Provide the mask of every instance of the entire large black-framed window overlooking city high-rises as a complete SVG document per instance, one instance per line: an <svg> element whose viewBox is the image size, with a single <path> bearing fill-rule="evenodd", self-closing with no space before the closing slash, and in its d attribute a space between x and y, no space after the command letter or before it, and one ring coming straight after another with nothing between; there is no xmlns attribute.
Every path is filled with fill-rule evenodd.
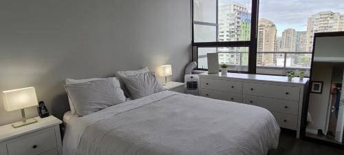
<svg viewBox="0 0 344 155"><path fill-rule="evenodd" d="M198 68L206 53L232 71L309 75L315 32L344 31L344 1L193 0ZM259 10L259 12L257 11Z"/></svg>

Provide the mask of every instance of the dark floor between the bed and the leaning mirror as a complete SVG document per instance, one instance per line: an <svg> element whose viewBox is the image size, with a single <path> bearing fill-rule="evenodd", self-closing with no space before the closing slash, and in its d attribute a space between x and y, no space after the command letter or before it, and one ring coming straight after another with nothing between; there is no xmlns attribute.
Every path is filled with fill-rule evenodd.
<svg viewBox="0 0 344 155"><path fill-rule="evenodd" d="M312 141L299 140L295 133L281 131L279 148L272 150L269 155L343 155L344 149L315 143Z"/></svg>

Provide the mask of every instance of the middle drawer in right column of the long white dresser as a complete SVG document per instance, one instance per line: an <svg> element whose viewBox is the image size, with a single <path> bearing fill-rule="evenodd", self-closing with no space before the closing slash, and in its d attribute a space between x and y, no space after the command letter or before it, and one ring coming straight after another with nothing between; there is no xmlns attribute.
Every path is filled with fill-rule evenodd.
<svg viewBox="0 0 344 155"><path fill-rule="evenodd" d="M284 114L299 114L299 102L281 99L272 99L261 96L243 95L243 103L264 107L272 112L281 112Z"/></svg>

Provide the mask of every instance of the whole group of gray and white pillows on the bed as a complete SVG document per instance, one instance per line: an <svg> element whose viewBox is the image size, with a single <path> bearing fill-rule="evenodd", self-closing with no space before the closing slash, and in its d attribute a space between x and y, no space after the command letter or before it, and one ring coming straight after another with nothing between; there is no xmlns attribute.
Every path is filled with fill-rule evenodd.
<svg viewBox="0 0 344 155"><path fill-rule="evenodd" d="M86 116L106 107L131 99L140 99L164 89L148 68L141 70L118 71L116 77L73 80L66 79L72 114Z"/></svg>

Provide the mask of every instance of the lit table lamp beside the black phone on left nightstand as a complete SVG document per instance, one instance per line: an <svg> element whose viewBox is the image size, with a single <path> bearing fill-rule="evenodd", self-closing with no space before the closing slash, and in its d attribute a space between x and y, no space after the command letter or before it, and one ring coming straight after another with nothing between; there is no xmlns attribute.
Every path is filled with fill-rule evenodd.
<svg viewBox="0 0 344 155"><path fill-rule="evenodd" d="M26 119L24 111L25 107L38 105L34 87L25 87L17 90L3 91L3 105L5 107L5 110L8 112L21 110L22 121L12 123L12 126L14 128L37 122L34 118Z"/></svg>

